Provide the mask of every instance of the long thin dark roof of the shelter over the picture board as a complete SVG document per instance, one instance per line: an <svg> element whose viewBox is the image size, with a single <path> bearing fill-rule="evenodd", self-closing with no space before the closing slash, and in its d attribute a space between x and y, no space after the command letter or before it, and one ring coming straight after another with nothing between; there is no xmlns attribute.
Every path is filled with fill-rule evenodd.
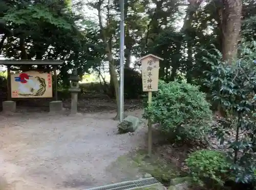
<svg viewBox="0 0 256 190"><path fill-rule="evenodd" d="M0 60L0 65L62 65L62 60Z"/></svg>

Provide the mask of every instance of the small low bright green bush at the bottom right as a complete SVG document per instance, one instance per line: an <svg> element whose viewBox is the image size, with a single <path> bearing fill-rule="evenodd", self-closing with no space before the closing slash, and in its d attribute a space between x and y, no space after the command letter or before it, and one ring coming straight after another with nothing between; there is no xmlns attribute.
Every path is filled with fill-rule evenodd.
<svg viewBox="0 0 256 190"><path fill-rule="evenodd" d="M185 161L195 183L217 189L224 185L230 164L223 153L199 150L189 154Z"/></svg>

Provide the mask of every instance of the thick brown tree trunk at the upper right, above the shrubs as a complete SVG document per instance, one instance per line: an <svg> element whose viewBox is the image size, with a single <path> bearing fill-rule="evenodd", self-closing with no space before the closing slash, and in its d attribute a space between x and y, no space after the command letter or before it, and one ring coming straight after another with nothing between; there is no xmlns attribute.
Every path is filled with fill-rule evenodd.
<svg viewBox="0 0 256 190"><path fill-rule="evenodd" d="M241 31L242 1L222 0L221 12L223 61L231 64L237 56Z"/></svg>

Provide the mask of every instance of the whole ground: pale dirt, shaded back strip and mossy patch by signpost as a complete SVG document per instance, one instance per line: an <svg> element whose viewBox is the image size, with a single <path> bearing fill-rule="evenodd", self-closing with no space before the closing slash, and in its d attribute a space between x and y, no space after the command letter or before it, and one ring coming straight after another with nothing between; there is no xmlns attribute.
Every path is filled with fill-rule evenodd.
<svg viewBox="0 0 256 190"><path fill-rule="evenodd" d="M4 189L86 189L141 178L145 173L168 185L180 175L177 170L186 150L159 146L165 140L153 131L154 155L144 159L145 121L135 133L117 134L113 100L80 99L83 114L77 116L68 116L69 100L63 101L66 111L50 115L49 101L22 100L12 116L0 113L0 175L9 183ZM139 107L140 100L125 102L126 111ZM141 118L142 113L126 114ZM0 178L0 190L1 184Z"/></svg>

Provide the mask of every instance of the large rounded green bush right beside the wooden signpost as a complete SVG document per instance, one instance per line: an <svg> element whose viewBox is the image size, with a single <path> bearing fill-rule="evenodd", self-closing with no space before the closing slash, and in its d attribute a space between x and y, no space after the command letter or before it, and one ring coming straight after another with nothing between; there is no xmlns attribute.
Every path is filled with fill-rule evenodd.
<svg viewBox="0 0 256 190"><path fill-rule="evenodd" d="M198 87L185 82L159 82L150 107L145 107L144 118L159 123L161 131L175 134L182 140L202 140L209 131L212 113L205 94Z"/></svg>

